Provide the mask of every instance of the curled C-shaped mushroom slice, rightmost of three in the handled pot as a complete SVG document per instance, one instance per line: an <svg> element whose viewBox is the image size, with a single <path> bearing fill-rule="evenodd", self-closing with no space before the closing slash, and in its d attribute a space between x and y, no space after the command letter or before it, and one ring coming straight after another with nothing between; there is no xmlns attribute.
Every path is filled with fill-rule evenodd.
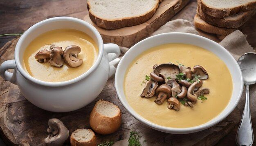
<svg viewBox="0 0 256 146"><path fill-rule="evenodd" d="M64 50L63 58L65 62L71 67L80 66L83 63L82 59L77 58L78 53L81 52L81 48L76 45L67 46Z"/></svg>

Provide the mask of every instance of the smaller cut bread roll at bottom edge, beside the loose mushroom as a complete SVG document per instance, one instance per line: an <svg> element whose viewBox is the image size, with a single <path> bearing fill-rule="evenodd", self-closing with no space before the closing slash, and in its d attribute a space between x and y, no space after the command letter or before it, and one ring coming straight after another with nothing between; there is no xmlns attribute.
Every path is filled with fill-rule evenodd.
<svg viewBox="0 0 256 146"><path fill-rule="evenodd" d="M91 129L76 129L70 135L71 146L97 146L97 138Z"/></svg>

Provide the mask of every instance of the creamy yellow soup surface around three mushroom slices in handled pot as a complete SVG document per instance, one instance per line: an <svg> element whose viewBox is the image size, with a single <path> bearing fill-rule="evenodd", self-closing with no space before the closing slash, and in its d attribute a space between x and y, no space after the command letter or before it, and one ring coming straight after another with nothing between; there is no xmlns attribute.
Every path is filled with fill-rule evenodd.
<svg viewBox="0 0 256 146"><path fill-rule="evenodd" d="M83 64L78 67L71 67L64 63L61 68L52 66L49 62L40 63L35 59L36 53L47 49L49 46L62 47L63 51L67 46L76 45L81 48L79 59L83 59ZM99 49L89 35L74 29L56 29L48 31L35 38L25 50L23 67L32 77L46 82L63 82L74 79L90 69L97 60Z"/></svg>

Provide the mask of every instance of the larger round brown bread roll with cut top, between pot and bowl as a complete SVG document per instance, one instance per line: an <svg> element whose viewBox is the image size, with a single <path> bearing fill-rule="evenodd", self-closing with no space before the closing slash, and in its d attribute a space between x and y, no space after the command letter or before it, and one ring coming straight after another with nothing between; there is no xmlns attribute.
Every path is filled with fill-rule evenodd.
<svg viewBox="0 0 256 146"><path fill-rule="evenodd" d="M90 114L90 126L99 134L110 134L121 126L121 111L105 100L96 102Z"/></svg>

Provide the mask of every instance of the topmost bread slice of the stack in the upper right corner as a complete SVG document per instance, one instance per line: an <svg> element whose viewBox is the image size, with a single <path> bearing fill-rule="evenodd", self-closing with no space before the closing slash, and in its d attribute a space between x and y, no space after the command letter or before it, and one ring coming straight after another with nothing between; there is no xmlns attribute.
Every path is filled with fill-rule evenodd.
<svg viewBox="0 0 256 146"><path fill-rule="evenodd" d="M216 18L256 9L256 0L199 0L204 13Z"/></svg>

